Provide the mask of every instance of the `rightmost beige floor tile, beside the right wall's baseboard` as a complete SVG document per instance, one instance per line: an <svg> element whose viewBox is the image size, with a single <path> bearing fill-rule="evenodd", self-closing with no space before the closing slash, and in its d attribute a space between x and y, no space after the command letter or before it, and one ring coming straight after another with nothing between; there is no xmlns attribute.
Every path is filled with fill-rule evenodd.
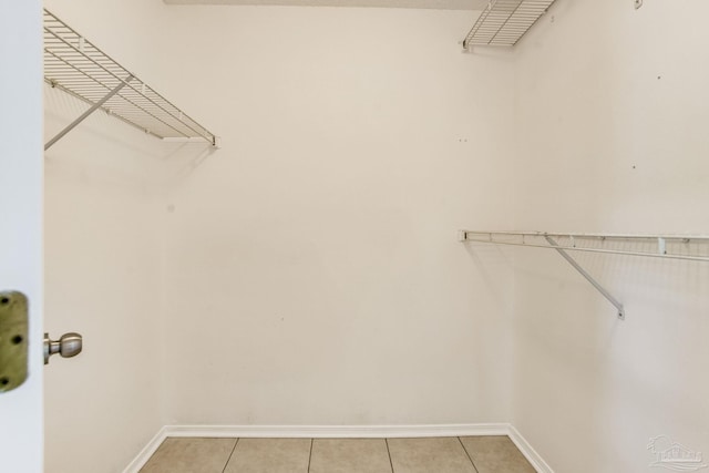
<svg viewBox="0 0 709 473"><path fill-rule="evenodd" d="M517 446L507 435L462 436L479 473L535 473Z"/></svg>

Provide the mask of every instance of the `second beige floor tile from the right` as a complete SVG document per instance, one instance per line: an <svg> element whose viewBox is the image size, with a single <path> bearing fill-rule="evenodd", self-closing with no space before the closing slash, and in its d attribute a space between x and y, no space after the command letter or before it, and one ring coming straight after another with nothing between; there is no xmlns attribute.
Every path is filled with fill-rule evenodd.
<svg viewBox="0 0 709 473"><path fill-rule="evenodd" d="M394 473L475 473L458 438L389 439Z"/></svg>

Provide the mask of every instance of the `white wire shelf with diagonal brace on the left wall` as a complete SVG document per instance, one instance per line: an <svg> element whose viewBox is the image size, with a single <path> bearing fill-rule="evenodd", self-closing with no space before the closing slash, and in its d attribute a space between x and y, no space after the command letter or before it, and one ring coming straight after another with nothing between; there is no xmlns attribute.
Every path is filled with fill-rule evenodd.
<svg viewBox="0 0 709 473"><path fill-rule="evenodd" d="M217 146L212 132L47 9L43 23L44 81L91 105L45 150L97 109L158 138L201 138Z"/></svg>

